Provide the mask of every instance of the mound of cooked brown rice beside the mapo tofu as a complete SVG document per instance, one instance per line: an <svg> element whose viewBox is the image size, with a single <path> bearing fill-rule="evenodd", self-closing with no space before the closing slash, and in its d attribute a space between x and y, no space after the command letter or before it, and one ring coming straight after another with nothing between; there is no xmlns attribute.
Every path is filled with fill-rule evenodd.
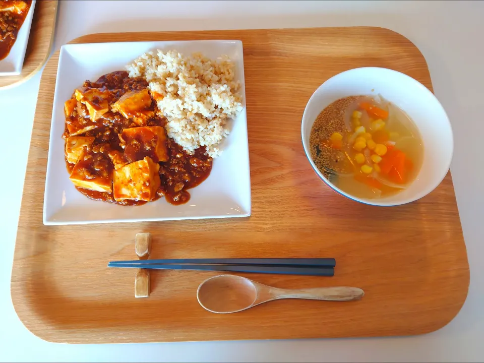
<svg viewBox="0 0 484 363"><path fill-rule="evenodd" d="M127 67L130 77L144 77L167 118L167 135L187 152L205 146L217 157L228 135L226 122L242 109L234 64L227 56L213 60L194 53L158 49L144 53Z"/></svg>

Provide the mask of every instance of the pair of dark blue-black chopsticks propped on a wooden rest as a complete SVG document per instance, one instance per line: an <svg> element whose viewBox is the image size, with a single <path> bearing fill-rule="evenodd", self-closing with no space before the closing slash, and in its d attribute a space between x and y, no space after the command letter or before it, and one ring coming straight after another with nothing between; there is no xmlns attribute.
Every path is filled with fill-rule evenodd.
<svg viewBox="0 0 484 363"><path fill-rule="evenodd" d="M335 265L336 260L333 258L243 258L111 261L107 267L333 276Z"/></svg>

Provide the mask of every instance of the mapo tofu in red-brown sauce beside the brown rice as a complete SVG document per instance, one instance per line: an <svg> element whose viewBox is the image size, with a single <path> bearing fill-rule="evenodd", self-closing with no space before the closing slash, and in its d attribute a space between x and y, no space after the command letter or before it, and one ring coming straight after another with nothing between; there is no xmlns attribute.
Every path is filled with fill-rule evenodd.
<svg viewBox="0 0 484 363"><path fill-rule="evenodd" d="M166 136L148 83L117 71L86 81L65 102L65 156L70 179L88 198L140 205L162 196L190 199L212 158L200 148L186 153Z"/></svg>

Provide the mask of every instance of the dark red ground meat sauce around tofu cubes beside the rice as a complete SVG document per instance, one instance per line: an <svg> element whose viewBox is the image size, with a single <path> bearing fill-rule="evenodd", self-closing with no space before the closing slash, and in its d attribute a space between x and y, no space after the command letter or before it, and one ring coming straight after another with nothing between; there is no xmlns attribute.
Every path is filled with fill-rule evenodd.
<svg viewBox="0 0 484 363"><path fill-rule="evenodd" d="M113 95L112 99L109 100L109 104L111 105L126 92L147 88L148 83L142 78L129 78L128 72L116 71L100 77L96 82L86 81L83 87L97 88L100 91L110 91ZM74 94L72 98L75 99ZM155 105L156 102L152 99L151 109L153 111L155 111ZM63 138L66 140L69 137L67 127L73 122L81 125L92 123L85 105L79 102L77 108L66 118L66 129L63 134ZM164 127L164 125L165 119L157 115L151 117L147 122L147 126ZM118 134L122 133L125 128L130 127L134 127L133 119L125 118L119 112L108 111L96 121L96 127L94 129L77 135L95 138L95 141L86 147L86 154L83 160L80 159L78 161L78 164L81 163L79 165L83 167L86 178L90 178L91 175L93 175L92 177L111 175L112 178L114 165L108 153L112 150L124 152ZM190 199L190 193L187 190L198 186L210 175L212 158L206 155L206 150L203 147L195 150L193 155L189 155L170 138L167 138L166 146L168 148L169 158L165 162L159 162L161 186L152 201L165 196L166 201L173 205L187 203ZM142 157L139 159L142 159ZM74 165L69 163L66 157L66 166L69 173L72 173ZM76 189L88 198L94 200L121 205L141 205L146 203L145 201L136 200L116 201L112 193L98 192L79 187L76 187Z"/></svg>

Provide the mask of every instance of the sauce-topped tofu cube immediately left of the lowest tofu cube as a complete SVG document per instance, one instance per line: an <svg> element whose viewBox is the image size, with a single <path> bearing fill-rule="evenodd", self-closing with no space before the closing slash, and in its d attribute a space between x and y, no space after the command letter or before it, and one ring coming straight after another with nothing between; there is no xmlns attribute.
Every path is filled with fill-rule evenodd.
<svg viewBox="0 0 484 363"><path fill-rule="evenodd" d="M111 161L103 154L83 151L69 178L76 187L110 193L112 191Z"/></svg>

